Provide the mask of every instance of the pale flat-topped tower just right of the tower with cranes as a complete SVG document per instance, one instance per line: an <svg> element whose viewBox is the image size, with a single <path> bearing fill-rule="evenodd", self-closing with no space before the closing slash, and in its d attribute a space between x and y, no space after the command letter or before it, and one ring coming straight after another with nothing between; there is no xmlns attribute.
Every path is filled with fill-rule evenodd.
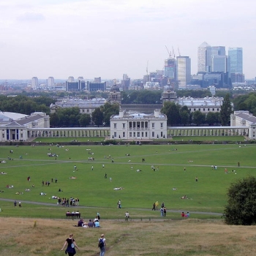
<svg viewBox="0 0 256 256"><path fill-rule="evenodd" d="M177 57L178 88L185 89L191 80L191 60L188 56Z"/></svg>

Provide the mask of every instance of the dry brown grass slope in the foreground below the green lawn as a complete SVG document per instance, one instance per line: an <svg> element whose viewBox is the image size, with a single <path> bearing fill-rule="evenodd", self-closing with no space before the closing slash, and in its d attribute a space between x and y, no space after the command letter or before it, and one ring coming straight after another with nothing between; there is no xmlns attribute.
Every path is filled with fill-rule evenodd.
<svg viewBox="0 0 256 256"><path fill-rule="evenodd" d="M36 225L34 223L36 222ZM255 226L227 226L211 220L115 221L102 227L78 228L72 220L0 219L0 255L64 255L69 233L80 246L77 255L99 254L97 239L105 233L106 255L252 256L256 254Z"/></svg>

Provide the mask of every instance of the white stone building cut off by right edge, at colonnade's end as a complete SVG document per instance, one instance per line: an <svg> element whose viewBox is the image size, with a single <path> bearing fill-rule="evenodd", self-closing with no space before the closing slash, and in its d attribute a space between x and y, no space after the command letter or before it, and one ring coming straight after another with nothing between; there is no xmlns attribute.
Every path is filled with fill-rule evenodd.
<svg viewBox="0 0 256 256"><path fill-rule="evenodd" d="M250 140L255 140L256 138L256 117L252 116L249 111L240 110L235 111L230 116L230 126L231 127L248 127L248 134L246 136Z"/></svg>

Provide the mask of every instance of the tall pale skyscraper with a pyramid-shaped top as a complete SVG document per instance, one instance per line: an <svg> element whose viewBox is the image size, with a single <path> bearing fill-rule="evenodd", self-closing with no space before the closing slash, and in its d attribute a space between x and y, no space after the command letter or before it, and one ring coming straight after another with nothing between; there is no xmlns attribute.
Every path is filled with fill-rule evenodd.
<svg viewBox="0 0 256 256"><path fill-rule="evenodd" d="M211 46L203 42L197 49L197 72L209 72L211 69Z"/></svg>

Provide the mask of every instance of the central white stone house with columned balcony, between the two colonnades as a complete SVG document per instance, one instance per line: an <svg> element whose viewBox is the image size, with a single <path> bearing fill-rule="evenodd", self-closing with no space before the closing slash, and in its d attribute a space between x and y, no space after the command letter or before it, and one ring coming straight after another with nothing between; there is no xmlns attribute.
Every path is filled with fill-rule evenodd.
<svg viewBox="0 0 256 256"><path fill-rule="evenodd" d="M152 140L167 138L167 117L154 110L154 114L126 113L110 118L110 138L121 140Z"/></svg>

